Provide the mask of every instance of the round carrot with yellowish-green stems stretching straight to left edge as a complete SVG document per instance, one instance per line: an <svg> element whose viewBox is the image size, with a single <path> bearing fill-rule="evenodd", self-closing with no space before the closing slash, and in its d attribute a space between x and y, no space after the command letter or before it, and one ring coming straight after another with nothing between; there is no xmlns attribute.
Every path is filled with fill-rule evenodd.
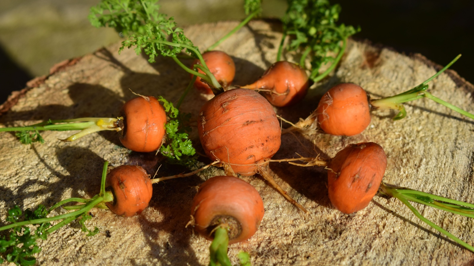
<svg viewBox="0 0 474 266"><path fill-rule="evenodd" d="M163 98L160 100L165 101ZM153 96L139 96L127 101L118 118L84 117L48 120L22 127L4 127L0 132L17 131L20 142L44 142L39 131L81 130L64 142L75 141L87 134L102 130L118 131L120 142L129 150L150 152L160 148L165 137L166 113Z"/></svg>

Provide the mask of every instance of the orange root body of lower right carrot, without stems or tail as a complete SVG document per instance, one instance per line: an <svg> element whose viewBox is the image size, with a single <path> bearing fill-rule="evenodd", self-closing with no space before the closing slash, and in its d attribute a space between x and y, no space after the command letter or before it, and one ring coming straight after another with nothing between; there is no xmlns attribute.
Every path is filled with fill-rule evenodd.
<svg viewBox="0 0 474 266"><path fill-rule="evenodd" d="M377 193L386 167L387 157L379 144L347 145L328 166L329 200L342 213L364 209Z"/></svg>

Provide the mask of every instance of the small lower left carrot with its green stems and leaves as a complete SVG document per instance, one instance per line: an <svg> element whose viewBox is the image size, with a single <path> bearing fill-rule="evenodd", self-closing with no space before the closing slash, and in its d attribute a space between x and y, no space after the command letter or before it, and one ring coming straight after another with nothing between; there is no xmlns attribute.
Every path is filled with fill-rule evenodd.
<svg viewBox="0 0 474 266"><path fill-rule="evenodd" d="M41 251L36 240L46 240L49 234L73 221L79 222L87 236L97 234L97 227L90 230L85 225L85 222L92 218L89 211L94 207L103 209L109 206L112 212L123 216L132 216L143 211L152 195L151 181L145 170L137 166L119 166L107 174L108 165L109 162L106 161L102 169L100 193L91 199L69 198L49 209L40 204L34 211L27 209L24 215L18 206L10 209L7 217L10 223L0 227L0 231L11 229L9 235L0 236L0 261L4 255L7 261L17 265L34 265L36 258L33 255ZM107 189L106 184L112 187L112 191ZM64 206L68 203L79 204ZM74 211L47 217L51 211L61 206ZM58 222L53 225L52 221ZM26 227L29 224L38 226L32 230Z"/></svg>

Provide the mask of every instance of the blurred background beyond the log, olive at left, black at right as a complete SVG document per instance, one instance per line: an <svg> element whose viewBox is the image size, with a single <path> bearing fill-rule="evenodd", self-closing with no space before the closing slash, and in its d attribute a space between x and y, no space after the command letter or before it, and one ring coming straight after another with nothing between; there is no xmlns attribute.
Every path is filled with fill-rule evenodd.
<svg viewBox="0 0 474 266"><path fill-rule="evenodd" d="M0 0L0 104L27 80L45 75L57 62L92 53L120 40L109 28L91 27L89 8L99 0ZM342 6L340 22L361 26L356 39L422 53L474 81L474 1L331 0ZM160 0L161 10L182 27L243 19L243 0ZM265 18L280 18L286 0L264 0Z"/></svg>

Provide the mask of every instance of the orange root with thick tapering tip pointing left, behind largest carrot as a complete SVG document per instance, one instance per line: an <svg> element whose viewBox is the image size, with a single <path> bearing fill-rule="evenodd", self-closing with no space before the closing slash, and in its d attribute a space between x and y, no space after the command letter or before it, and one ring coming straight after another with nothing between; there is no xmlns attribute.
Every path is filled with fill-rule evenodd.
<svg viewBox="0 0 474 266"><path fill-rule="evenodd" d="M291 106L304 98L309 84L308 75L300 66L288 61L279 61L271 65L259 80L242 88L272 90L278 94L264 92L265 98L272 105L283 107Z"/></svg>

